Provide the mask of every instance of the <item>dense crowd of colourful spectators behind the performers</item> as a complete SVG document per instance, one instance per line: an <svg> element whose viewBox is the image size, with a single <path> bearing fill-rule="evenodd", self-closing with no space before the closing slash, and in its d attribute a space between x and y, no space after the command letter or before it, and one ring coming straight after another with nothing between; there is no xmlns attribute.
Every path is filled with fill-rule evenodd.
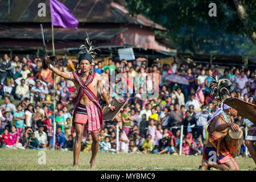
<svg viewBox="0 0 256 182"><path fill-rule="evenodd" d="M61 71L74 72L78 61L63 57L56 67ZM231 66L221 69L219 65L172 63L163 64L146 61L97 61L94 71L100 73L105 88L112 88L118 79L112 82L111 75L120 73L121 80L126 82L115 85L115 92L110 89L109 100L129 100L114 121L105 122L100 131L101 152L131 152L140 154L181 154L202 155L207 143L206 130L208 119L218 106L214 106L209 97L209 84L213 77L228 78L233 82L230 96L251 102L255 90L255 70ZM146 86L149 91L155 84L145 73L159 73L159 96L148 99L151 92L143 92ZM189 82L188 85L165 80L168 75L176 74ZM139 78L139 79L138 79ZM76 87L70 80L56 77L56 92L53 90L53 73L42 69L42 59L31 56L31 59L19 55L10 59L5 54L0 58L0 145L4 148L31 148L38 150L72 151L75 134L71 134ZM139 85L137 87L137 85ZM138 89L139 92L135 92ZM127 90L125 92L124 90ZM53 97L56 99L54 112ZM100 96L100 94L98 94ZM103 98L98 97L101 106ZM56 122L56 142L53 146L53 117ZM241 129L250 127L251 122L242 117L232 118ZM184 126L181 134L180 126ZM117 132L117 126L119 128ZM117 133L118 146L117 149ZM180 141L180 135L183 140ZM244 136L245 137L245 136ZM92 136L84 138L81 151L90 152ZM241 155L245 155L245 144L242 143Z"/></svg>

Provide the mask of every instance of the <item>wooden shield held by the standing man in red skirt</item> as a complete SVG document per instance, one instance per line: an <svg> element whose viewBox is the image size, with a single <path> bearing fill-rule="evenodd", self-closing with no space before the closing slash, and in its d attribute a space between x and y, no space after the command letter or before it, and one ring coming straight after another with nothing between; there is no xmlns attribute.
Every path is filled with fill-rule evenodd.
<svg viewBox="0 0 256 182"><path fill-rule="evenodd" d="M110 110L108 106L105 106L102 110L103 115L103 121L112 120L115 118L115 116L123 109L123 107L128 102L128 99L126 101L119 102L115 98L110 102L111 105L115 106L115 110Z"/></svg>

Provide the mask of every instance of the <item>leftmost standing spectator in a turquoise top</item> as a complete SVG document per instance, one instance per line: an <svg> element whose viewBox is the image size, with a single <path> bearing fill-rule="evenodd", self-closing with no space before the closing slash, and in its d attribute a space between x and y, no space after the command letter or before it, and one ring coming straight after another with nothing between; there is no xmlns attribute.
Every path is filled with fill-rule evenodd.
<svg viewBox="0 0 256 182"><path fill-rule="evenodd" d="M25 113L22 111L22 105L17 106L17 111L13 114L13 119L15 121L15 126L20 133L20 137L23 138L23 133L25 132Z"/></svg>

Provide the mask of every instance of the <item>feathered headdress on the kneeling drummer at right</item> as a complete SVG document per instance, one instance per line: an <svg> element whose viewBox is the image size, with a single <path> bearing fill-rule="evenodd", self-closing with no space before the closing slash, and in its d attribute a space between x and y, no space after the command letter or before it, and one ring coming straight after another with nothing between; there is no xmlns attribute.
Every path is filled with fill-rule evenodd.
<svg viewBox="0 0 256 182"><path fill-rule="evenodd" d="M229 87L232 82L225 78L218 79L218 76L212 78L213 81L210 82L210 97L214 97L215 105L220 105L221 102L229 98Z"/></svg>

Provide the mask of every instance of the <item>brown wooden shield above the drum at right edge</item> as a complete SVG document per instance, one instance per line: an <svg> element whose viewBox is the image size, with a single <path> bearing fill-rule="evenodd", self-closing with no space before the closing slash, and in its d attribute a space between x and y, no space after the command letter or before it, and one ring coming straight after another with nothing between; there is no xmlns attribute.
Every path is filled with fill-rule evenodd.
<svg viewBox="0 0 256 182"><path fill-rule="evenodd" d="M233 98L232 100L225 101L224 104L236 109L237 115L240 115L243 118L247 118L251 122L256 124L256 105L242 101L238 98Z"/></svg>

